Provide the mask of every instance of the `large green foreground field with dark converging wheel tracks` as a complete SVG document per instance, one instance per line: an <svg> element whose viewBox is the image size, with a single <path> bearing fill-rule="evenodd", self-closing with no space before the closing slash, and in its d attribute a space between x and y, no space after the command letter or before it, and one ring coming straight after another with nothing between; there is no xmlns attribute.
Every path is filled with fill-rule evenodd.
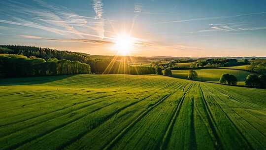
<svg viewBox="0 0 266 150"><path fill-rule="evenodd" d="M265 150L265 102L263 89L158 75L2 79L0 148Z"/></svg>

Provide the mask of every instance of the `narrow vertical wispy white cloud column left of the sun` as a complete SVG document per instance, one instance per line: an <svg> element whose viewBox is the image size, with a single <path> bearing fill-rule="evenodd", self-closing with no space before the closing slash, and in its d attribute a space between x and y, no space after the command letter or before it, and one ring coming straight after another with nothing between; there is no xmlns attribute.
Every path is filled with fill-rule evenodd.
<svg viewBox="0 0 266 150"><path fill-rule="evenodd" d="M97 34L101 38L104 38L103 3L101 0L92 0L92 6L96 13L95 24L96 24Z"/></svg>

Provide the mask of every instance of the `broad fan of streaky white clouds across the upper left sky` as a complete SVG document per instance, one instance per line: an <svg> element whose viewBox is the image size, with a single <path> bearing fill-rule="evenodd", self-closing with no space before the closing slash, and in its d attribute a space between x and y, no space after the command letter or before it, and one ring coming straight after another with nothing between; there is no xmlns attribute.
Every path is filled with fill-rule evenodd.
<svg viewBox="0 0 266 150"><path fill-rule="evenodd" d="M101 0L94 0L94 9L97 13L95 17L77 15L75 13L72 13L68 8L64 6L48 4L47 2L42 0L33 1L35 1L41 7L35 7L33 5L20 3L13 0L0 1L0 4L2 4L2 6L10 9L9 12L6 12L4 14L8 16L9 19L0 19L0 22L5 24L40 29L58 35L69 36L71 38L85 38L84 36L101 39L108 38L104 36L104 32L109 31L104 30ZM25 16L31 17L26 18ZM87 30L84 28L87 28ZM81 32L78 29L83 30ZM91 34L91 31L95 31L96 34Z"/></svg>

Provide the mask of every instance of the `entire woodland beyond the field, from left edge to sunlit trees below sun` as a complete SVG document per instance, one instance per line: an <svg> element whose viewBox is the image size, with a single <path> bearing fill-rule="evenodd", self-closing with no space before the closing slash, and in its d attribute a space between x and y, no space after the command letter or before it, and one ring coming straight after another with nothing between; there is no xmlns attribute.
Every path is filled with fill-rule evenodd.
<svg viewBox="0 0 266 150"><path fill-rule="evenodd" d="M1 76L71 75L71 74L155 74L155 68L130 66L109 58L91 58L89 54L34 46L0 45ZM6 57L11 57L12 61ZM7 63L7 64L6 64ZM76 65L74 65L76 64ZM82 70L85 64L89 70ZM13 67L8 67L8 66ZM72 66L76 67L73 69ZM87 66L88 67L88 66ZM27 68L25 70L25 68ZM17 73L14 74L14 71ZM18 73L19 72L19 73Z"/></svg>

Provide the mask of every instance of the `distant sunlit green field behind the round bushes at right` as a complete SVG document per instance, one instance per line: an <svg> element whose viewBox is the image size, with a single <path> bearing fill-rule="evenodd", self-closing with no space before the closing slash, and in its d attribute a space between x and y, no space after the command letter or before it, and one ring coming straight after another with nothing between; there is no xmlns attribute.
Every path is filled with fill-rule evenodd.
<svg viewBox="0 0 266 150"><path fill-rule="evenodd" d="M246 71L230 69L200 69L195 71L198 73L197 80L201 81L219 82L220 77L223 74L235 75L239 85L243 85L246 80L246 76L252 74ZM172 74L177 78L188 79L188 70L172 70Z"/></svg>

